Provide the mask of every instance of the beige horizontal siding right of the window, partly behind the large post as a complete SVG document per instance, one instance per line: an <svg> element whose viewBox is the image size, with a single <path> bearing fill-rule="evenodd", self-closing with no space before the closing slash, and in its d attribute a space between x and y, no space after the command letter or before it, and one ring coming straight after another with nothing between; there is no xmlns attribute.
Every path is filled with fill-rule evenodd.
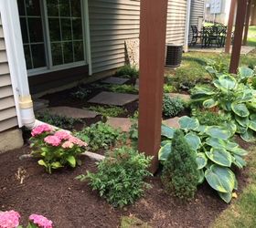
<svg viewBox="0 0 256 228"><path fill-rule="evenodd" d="M184 43L187 0L169 0L166 42ZM139 0L89 0L92 72L125 63L124 41L139 38ZM178 27L177 27L178 26Z"/></svg>

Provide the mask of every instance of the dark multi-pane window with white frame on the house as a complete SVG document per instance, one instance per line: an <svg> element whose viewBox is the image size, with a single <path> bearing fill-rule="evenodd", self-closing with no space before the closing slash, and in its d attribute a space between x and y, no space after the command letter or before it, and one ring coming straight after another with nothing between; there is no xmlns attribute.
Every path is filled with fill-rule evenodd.
<svg viewBox="0 0 256 228"><path fill-rule="evenodd" d="M85 64L81 0L17 0L28 72Z"/></svg>

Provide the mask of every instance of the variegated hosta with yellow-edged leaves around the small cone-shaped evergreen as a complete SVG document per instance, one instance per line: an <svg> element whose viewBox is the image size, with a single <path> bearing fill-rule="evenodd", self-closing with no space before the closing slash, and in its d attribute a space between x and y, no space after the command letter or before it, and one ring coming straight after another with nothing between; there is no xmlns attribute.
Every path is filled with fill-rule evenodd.
<svg viewBox="0 0 256 228"><path fill-rule="evenodd" d="M230 140L233 135L232 126L200 125L197 119L187 116L179 119L180 129L185 133L185 139L191 150L197 153L197 169L200 171L199 183L208 184L219 193L225 202L230 202L232 192L237 190L237 180L232 166L242 168L246 165L243 156L246 150ZM163 141L159 150L159 160L165 162L172 154L172 140L175 129L162 126Z"/></svg>

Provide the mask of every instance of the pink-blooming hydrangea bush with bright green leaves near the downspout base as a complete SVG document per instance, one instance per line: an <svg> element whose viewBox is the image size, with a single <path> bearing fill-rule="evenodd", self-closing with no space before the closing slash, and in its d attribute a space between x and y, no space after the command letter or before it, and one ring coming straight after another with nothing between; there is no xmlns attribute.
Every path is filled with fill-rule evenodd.
<svg viewBox="0 0 256 228"><path fill-rule="evenodd" d="M30 138L31 155L39 158L39 165L44 166L48 173L64 166L76 167L78 155L87 143L72 136L66 130L54 130L48 124L34 128Z"/></svg>

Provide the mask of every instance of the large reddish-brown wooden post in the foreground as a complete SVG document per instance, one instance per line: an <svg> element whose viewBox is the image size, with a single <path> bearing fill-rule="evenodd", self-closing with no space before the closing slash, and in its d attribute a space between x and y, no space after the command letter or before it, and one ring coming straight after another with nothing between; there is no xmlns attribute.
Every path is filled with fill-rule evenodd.
<svg viewBox="0 0 256 228"><path fill-rule="evenodd" d="M158 168L165 66L167 0L141 0L139 150Z"/></svg>

